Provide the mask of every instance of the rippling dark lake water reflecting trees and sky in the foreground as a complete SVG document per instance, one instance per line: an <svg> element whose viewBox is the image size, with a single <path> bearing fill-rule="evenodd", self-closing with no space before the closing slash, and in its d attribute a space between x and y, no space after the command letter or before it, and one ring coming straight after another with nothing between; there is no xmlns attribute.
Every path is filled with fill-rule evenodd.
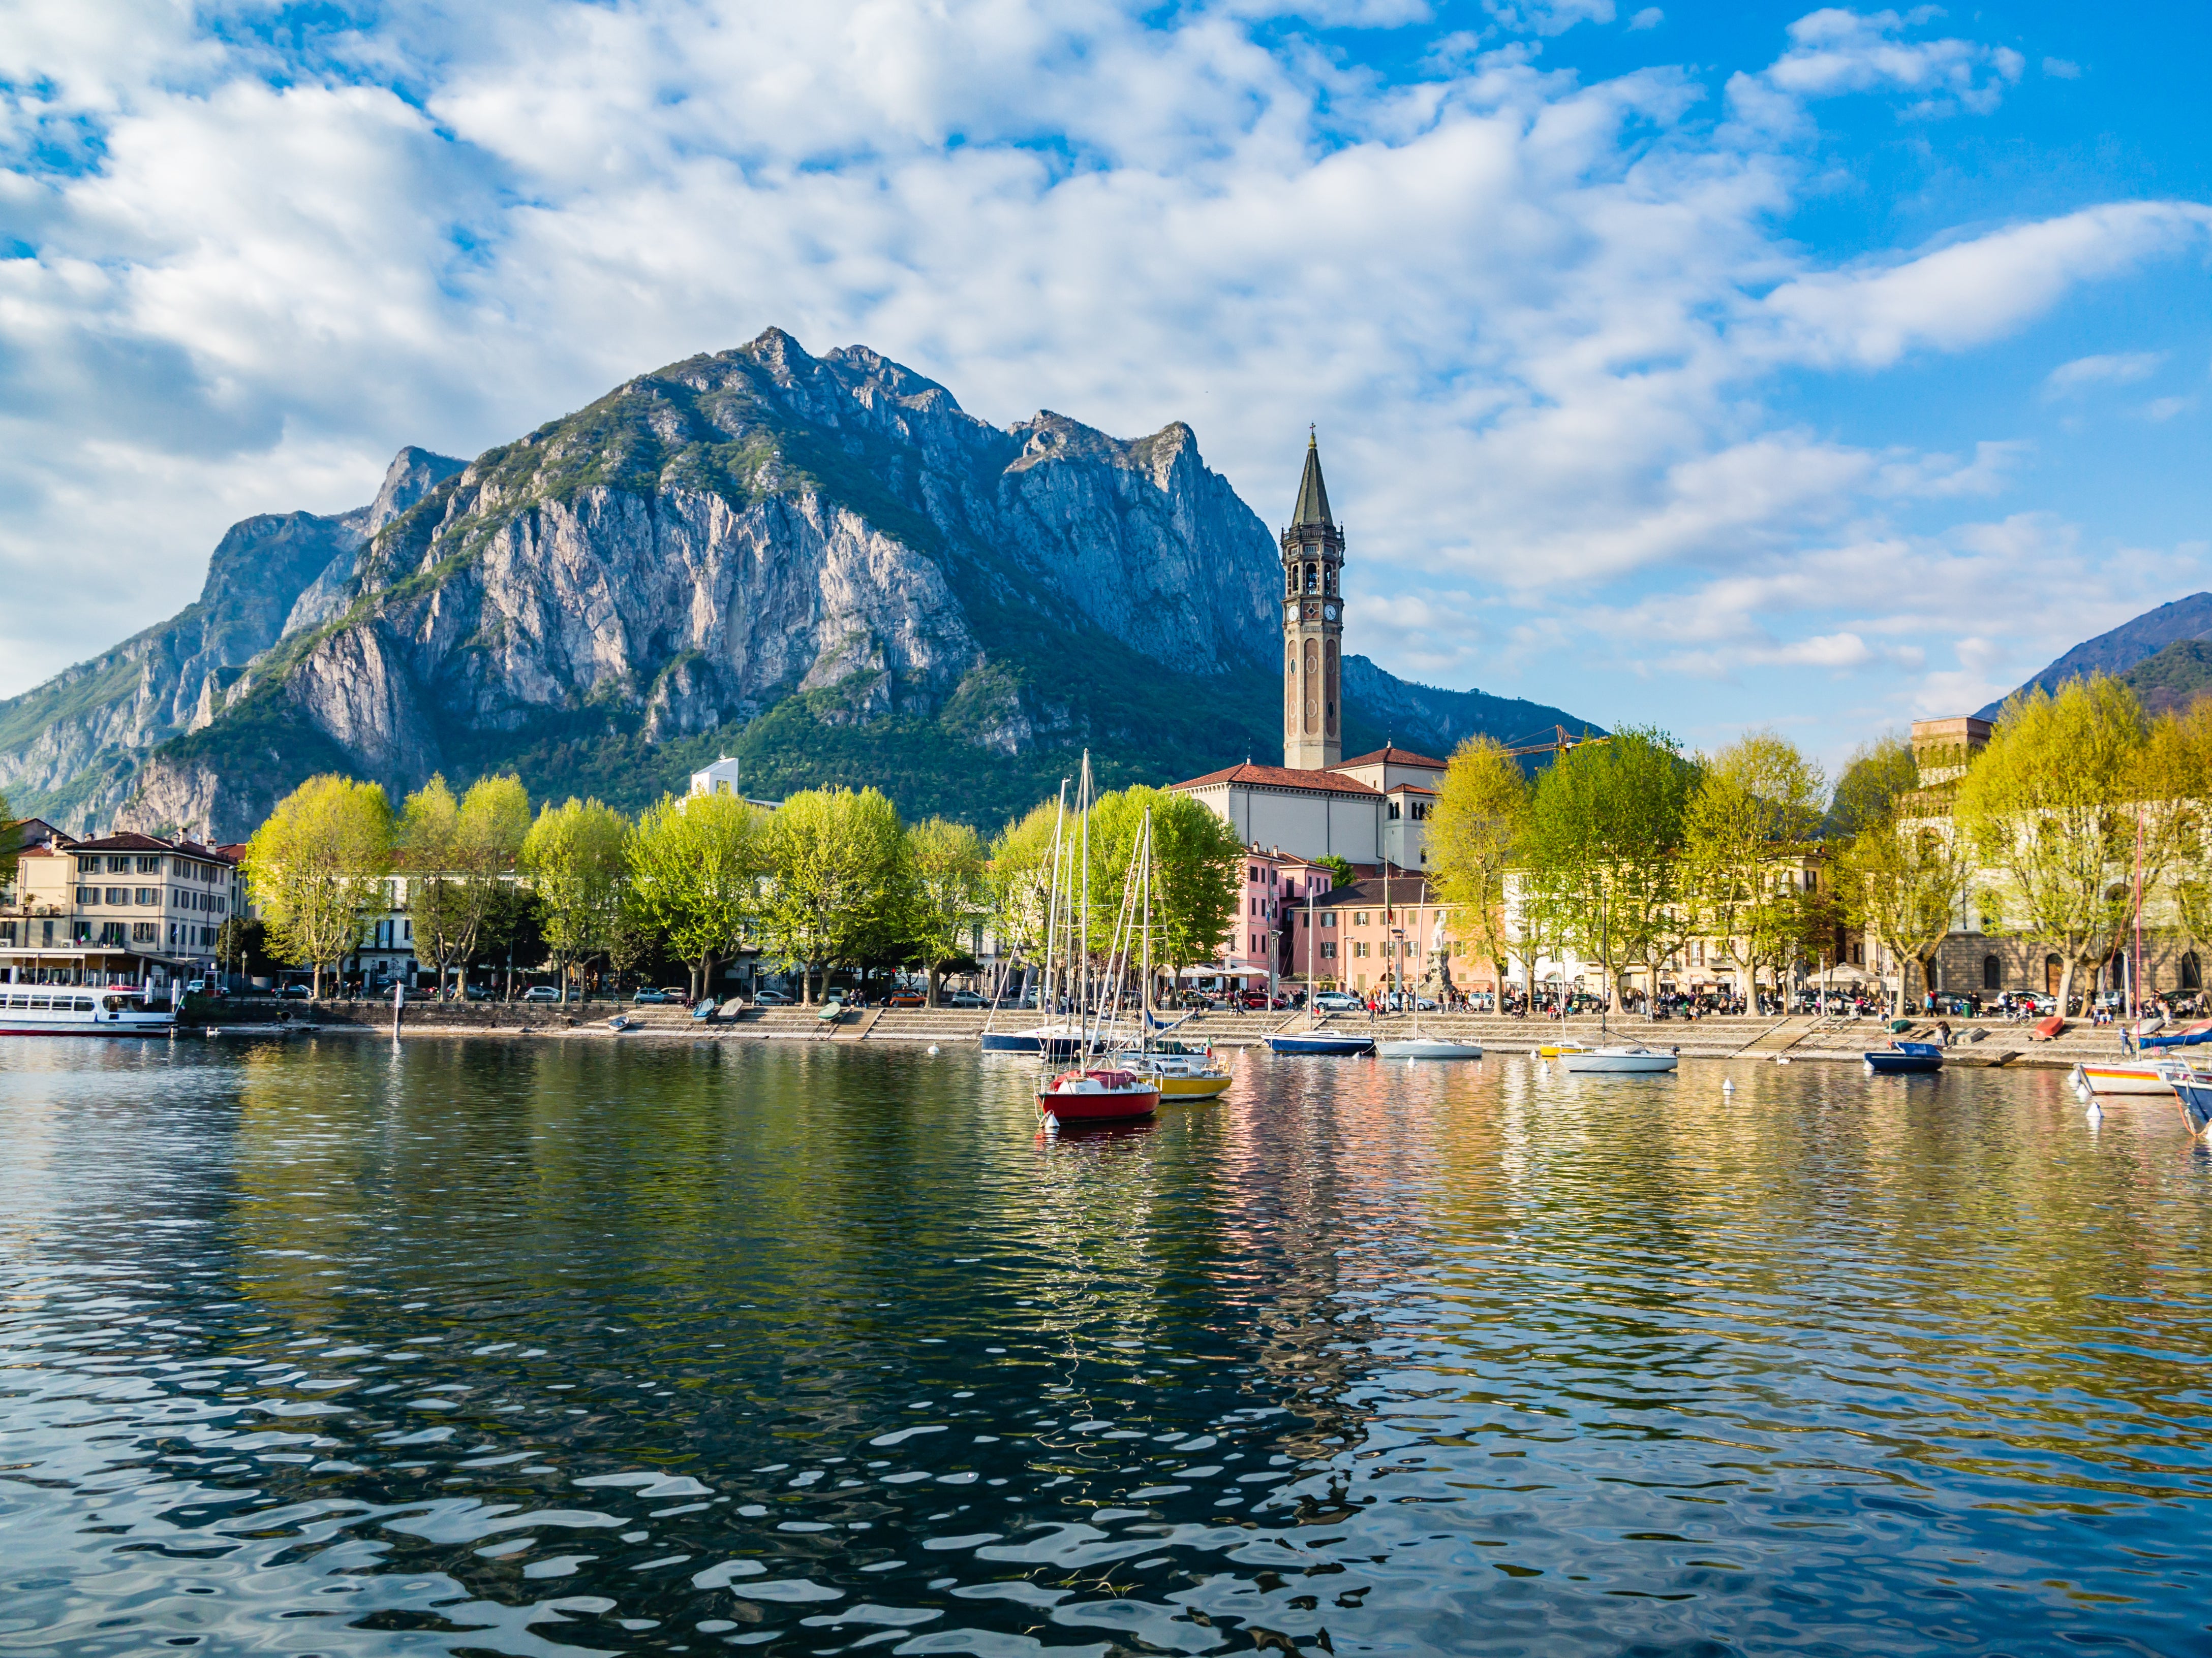
<svg viewBox="0 0 2212 1658"><path fill-rule="evenodd" d="M0 1654L2212 1649L2170 1103L1029 1081L0 1043Z"/></svg>

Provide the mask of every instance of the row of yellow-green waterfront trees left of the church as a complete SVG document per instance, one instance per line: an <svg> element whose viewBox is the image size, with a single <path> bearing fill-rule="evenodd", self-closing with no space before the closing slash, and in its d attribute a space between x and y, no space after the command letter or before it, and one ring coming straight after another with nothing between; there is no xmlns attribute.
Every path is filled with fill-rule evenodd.
<svg viewBox="0 0 2212 1658"><path fill-rule="evenodd" d="M1113 915L1137 829L1155 820L1157 955L1210 959L1237 915L1234 833L1161 789L1102 796L1091 814L1086 902ZM741 948L796 970L812 1001L836 966L920 966L936 1004L989 922L1013 955L1044 946L1060 802L1006 825L989 847L969 825L905 825L876 789L810 789L774 811L728 794L664 798L639 818L599 800L546 802L531 816L511 776L456 796L431 778L394 814L374 783L321 776L254 831L246 875L279 957L325 968L363 946L367 920L407 886L414 955L447 984L487 942L524 924L566 993L575 968L628 970L661 955L695 995ZM1079 827L1062 833L1066 867ZM1104 946L1104 942L1102 942Z"/></svg>

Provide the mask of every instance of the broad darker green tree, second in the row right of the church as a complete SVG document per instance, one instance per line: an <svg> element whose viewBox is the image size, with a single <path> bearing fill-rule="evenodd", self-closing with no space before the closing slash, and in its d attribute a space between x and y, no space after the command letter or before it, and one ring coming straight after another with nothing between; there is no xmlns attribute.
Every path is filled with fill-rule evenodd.
<svg viewBox="0 0 2212 1658"><path fill-rule="evenodd" d="M1697 767L1674 738L1624 727L1568 749L1535 785L1526 833L1528 924L1606 973L1657 968L1681 937L1683 814Z"/></svg>

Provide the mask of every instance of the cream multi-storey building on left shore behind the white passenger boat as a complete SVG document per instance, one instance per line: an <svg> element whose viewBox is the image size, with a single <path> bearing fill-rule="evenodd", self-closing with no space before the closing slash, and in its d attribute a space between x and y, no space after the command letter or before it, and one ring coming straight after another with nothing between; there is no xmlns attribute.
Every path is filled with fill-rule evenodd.
<svg viewBox="0 0 2212 1658"><path fill-rule="evenodd" d="M208 977L243 913L239 860L195 840L49 833L0 902L0 982L146 984Z"/></svg>

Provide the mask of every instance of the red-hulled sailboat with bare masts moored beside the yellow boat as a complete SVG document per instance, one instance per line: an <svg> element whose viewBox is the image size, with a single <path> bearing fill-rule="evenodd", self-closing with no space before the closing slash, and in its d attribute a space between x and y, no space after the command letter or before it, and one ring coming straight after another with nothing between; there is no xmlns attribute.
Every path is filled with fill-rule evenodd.
<svg viewBox="0 0 2212 1658"><path fill-rule="evenodd" d="M1075 809L1082 827L1082 862L1077 869L1068 869L1071 860L1055 860L1053 864L1053 913L1060 913L1060 889L1068 880L1068 959L1075 979L1075 1015L1077 1028L1073 1032L1073 1052L1091 1054L1099 1048L1113 1048L1115 1030L1121 1019L1121 990L1124 979L1130 968L1130 953L1137 944L1139 931L1144 935L1146 968L1150 968L1150 906L1152 906L1152 858L1150 858L1150 829L1152 820L1146 814L1144 833L1139 836L1137 851L1141 856L1130 858L1128 875L1121 882L1121 911L1115 917L1113 942L1106 951L1106 973L1099 979L1097 995L1091 995L1091 752L1084 752L1082 785L1077 787ZM1141 922L1139 922L1141 915ZM1055 928L1057 931L1057 928ZM1046 933L1046 968L1051 968L1053 955L1053 933ZM1051 979L1051 970L1046 970ZM1150 1030L1139 1021L1137 1052L1139 1063L1150 1046ZM1046 1032L1042 1037L1042 1052L1046 1061L1053 1057L1055 1037ZM1046 1127L1084 1127L1097 1123L1133 1123L1159 1112L1159 1083L1144 1077L1139 1070L1124 1066L1097 1066L1088 1068L1079 1059L1073 1068L1053 1072L1051 1063L1044 1063L1037 1072L1037 1116L1044 1119Z"/></svg>

